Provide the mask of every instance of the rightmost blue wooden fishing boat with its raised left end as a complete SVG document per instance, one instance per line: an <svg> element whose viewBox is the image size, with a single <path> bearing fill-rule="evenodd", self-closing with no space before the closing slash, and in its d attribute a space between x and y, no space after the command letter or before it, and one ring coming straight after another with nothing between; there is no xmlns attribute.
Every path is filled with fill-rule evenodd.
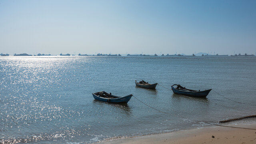
<svg viewBox="0 0 256 144"><path fill-rule="evenodd" d="M174 86L176 86L176 87L174 88ZM174 94L181 94L181 95L185 95L185 96L206 97L211 90L212 89L204 90L204 91L190 90L190 89L180 86L179 84L172 85L172 91Z"/></svg>

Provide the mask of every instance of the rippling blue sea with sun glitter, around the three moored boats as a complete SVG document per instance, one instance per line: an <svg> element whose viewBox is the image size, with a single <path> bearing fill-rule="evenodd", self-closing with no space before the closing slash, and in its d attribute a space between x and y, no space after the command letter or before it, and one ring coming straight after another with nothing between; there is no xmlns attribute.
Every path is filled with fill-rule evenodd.
<svg viewBox="0 0 256 144"><path fill-rule="evenodd" d="M156 90L135 80L159 83ZM173 94L172 84L213 89L207 98ZM164 87L168 88L164 88ZM128 104L92 93L133 94ZM0 142L92 143L206 126L256 114L253 57L0 57Z"/></svg>

